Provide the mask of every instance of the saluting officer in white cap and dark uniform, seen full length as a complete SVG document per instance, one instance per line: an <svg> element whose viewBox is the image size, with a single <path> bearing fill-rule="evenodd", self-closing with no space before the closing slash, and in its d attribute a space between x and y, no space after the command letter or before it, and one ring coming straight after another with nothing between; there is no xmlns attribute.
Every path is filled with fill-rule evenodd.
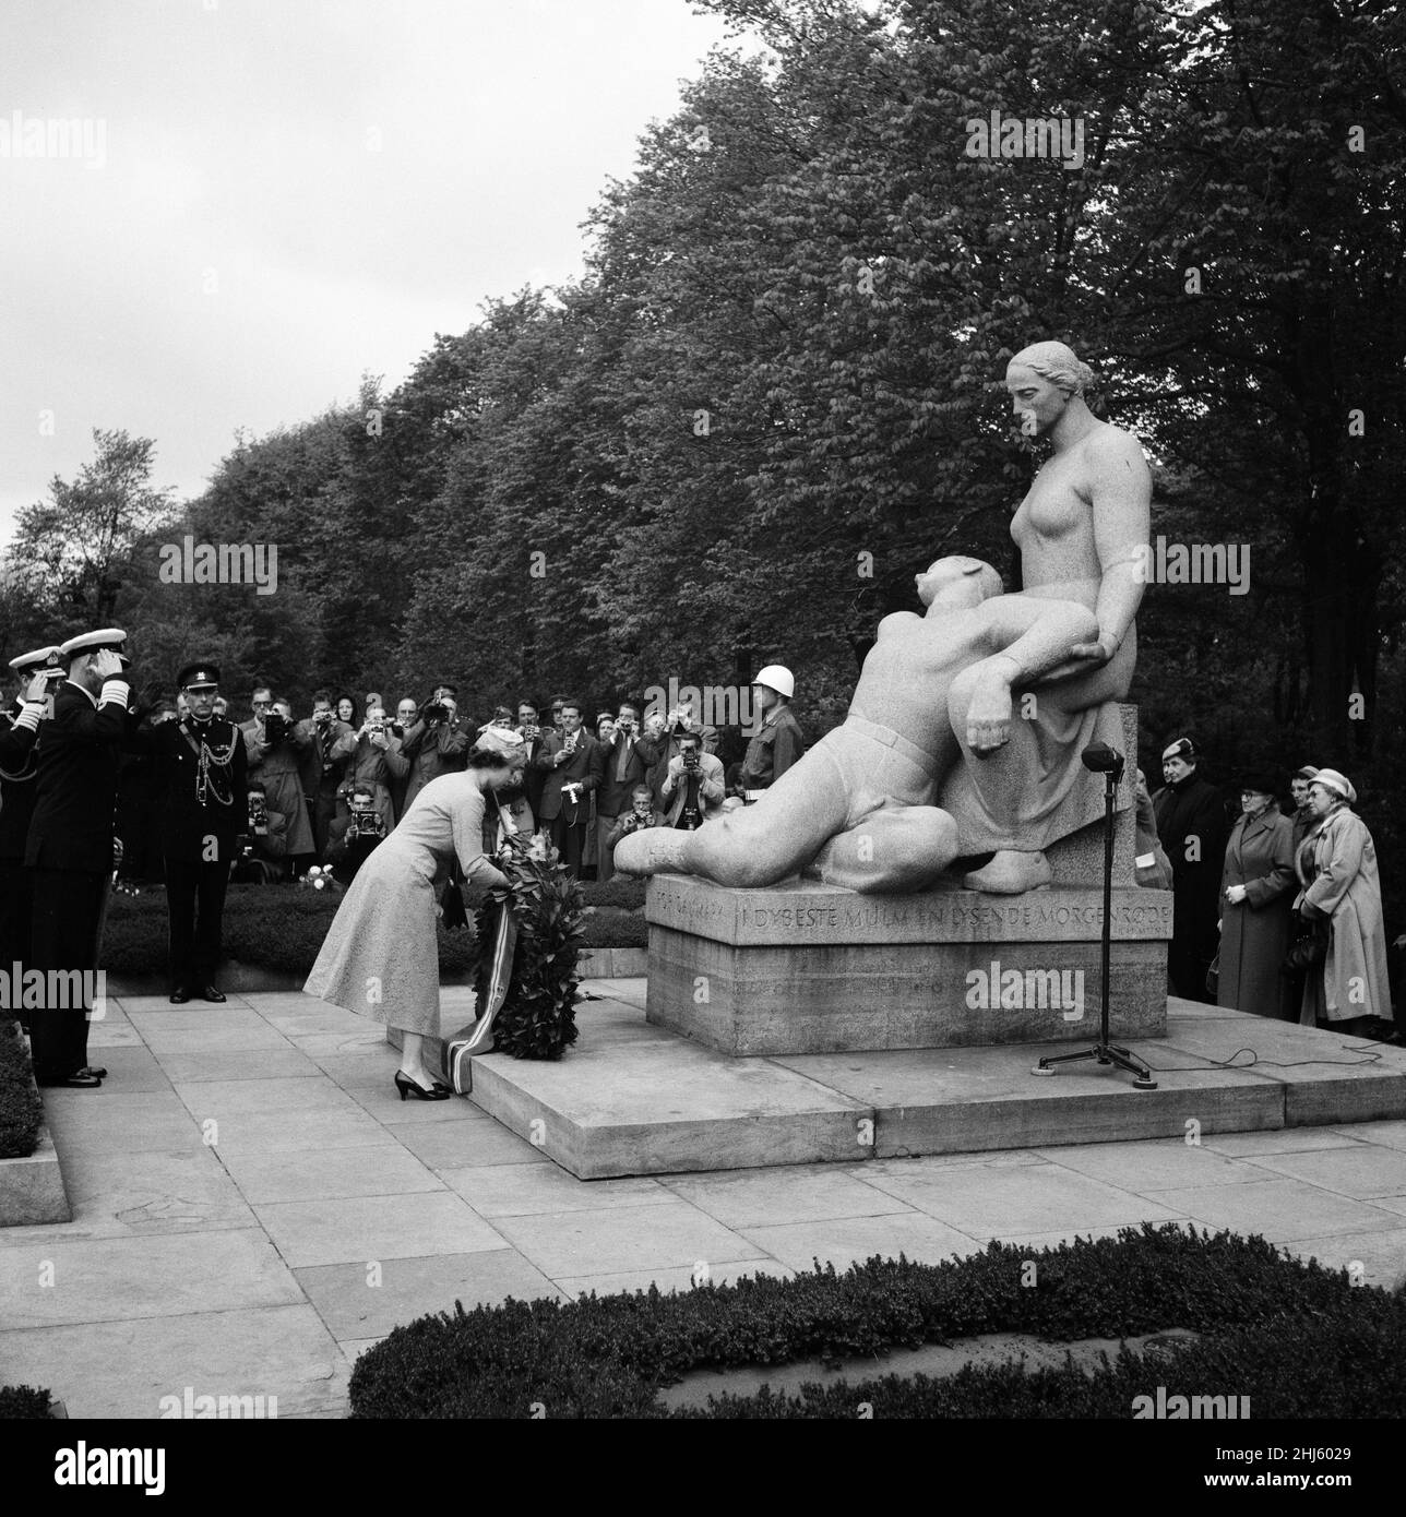
<svg viewBox="0 0 1406 1517"><path fill-rule="evenodd" d="M68 677L39 742L24 863L33 900L30 968L49 977L32 1021L35 1079L46 1086L93 1089L106 1073L88 1063L88 1013L112 874L117 757L133 725L120 652L126 637L108 627L59 648ZM56 971L67 975L62 988Z"/></svg>

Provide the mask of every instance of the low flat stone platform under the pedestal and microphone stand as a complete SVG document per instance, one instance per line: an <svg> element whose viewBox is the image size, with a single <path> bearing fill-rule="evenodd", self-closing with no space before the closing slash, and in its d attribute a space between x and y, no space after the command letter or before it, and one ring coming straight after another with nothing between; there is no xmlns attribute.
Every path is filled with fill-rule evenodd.
<svg viewBox="0 0 1406 1517"><path fill-rule="evenodd" d="M639 980L588 989L575 1048L476 1059L470 1097L582 1180L1406 1118L1406 1050L1194 1001L1131 1044L1159 1082L1135 1091L1030 1073L1068 1042L739 1059L651 1025Z"/></svg>

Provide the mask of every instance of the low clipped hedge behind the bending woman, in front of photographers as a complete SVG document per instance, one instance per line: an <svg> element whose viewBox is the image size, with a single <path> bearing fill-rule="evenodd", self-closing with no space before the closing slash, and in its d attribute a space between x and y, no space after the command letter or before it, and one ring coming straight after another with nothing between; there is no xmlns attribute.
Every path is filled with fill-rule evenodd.
<svg viewBox="0 0 1406 1517"><path fill-rule="evenodd" d="M643 948L648 942L645 921L628 915L622 906L629 890L639 892L643 881L629 880L617 889L611 880L598 890L611 897L602 909L585 918L587 948ZM587 901L592 884L587 884ZM466 892L466 904L473 913L482 892ZM337 915L340 895L294 884L232 884L224 904L223 947L226 959L308 974L322 948L323 938ZM112 975L141 977L164 974L168 968L165 892L143 890L141 895L114 895L108 907L103 933L103 969ZM440 974L469 974L475 960L473 930L437 931L440 944Z"/></svg>

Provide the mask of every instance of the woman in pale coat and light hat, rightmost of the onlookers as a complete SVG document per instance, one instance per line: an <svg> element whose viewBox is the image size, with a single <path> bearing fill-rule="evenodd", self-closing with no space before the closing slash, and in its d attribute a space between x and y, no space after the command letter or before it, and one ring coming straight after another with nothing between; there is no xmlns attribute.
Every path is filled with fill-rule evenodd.
<svg viewBox="0 0 1406 1517"><path fill-rule="evenodd" d="M1309 781L1317 831L1298 845L1294 866L1303 890L1294 903L1306 922L1326 922L1326 954L1309 969L1298 1021L1304 1027L1391 1021L1386 930L1377 850L1347 775L1320 769Z"/></svg>

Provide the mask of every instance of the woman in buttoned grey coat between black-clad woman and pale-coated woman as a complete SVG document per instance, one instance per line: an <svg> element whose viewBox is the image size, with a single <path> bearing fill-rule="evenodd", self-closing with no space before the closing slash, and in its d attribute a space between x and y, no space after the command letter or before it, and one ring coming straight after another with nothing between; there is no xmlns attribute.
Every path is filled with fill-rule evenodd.
<svg viewBox="0 0 1406 1517"><path fill-rule="evenodd" d="M1280 968L1294 936L1294 824L1280 813L1268 775L1241 784L1241 812L1221 874L1216 1000L1256 1016L1282 1016Z"/></svg>

